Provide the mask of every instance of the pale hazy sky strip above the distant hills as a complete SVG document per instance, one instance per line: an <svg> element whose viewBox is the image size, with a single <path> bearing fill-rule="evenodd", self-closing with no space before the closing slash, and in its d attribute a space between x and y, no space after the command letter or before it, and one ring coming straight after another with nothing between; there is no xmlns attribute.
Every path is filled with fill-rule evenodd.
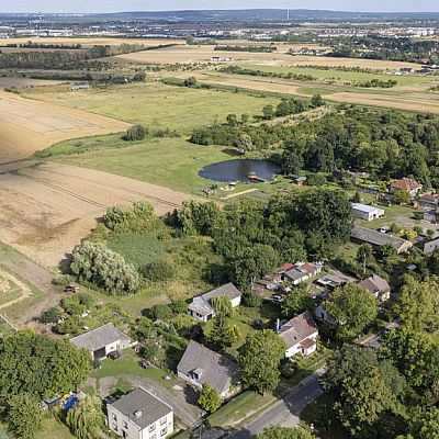
<svg viewBox="0 0 439 439"><path fill-rule="evenodd" d="M288 0L0 0L0 12L117 12L284 8ZM438 12L438 0L290 0L292 9Z"/></svg>

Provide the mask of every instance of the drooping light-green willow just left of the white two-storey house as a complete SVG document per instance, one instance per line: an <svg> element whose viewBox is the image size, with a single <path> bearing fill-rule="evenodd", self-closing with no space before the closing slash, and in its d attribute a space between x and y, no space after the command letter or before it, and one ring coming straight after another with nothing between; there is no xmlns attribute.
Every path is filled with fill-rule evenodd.
<svg viewBox="0 0 439 439"><path fill-rule="evenodd" d="M101 398L87 395L76 407L68 410L66 425L78 439L94 437L95 431L104 425Z"/></svg>

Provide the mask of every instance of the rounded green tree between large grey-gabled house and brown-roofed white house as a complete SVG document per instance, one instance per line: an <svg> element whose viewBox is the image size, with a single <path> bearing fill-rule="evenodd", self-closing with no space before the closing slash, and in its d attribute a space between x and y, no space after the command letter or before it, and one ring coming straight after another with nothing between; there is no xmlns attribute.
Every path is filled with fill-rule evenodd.
<svg viewBox="0 0 439 439"><path fill-rule="evenodd" d="M279 384L279 367L284 356L285 344L272 330L249 334L237 358L243 384L261 394L273 391Z"/></svg>

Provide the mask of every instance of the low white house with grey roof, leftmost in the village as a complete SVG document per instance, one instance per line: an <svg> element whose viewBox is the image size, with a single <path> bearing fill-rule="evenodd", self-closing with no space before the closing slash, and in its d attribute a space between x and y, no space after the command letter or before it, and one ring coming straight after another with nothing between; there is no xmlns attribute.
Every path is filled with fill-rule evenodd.
<svg viewBox="0 0 439 439"><path fill-rule="evenodd" d="M74 337L70 341L78 348L87 349L93 360L101 360L109 353L119 352L132 345L130 337L115 328L112 323Z"/></svg>

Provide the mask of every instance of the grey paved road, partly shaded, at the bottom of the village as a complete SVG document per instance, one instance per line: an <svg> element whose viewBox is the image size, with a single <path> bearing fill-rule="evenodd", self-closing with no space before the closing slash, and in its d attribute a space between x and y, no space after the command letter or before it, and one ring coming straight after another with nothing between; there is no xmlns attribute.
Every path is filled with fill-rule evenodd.
<svg viewBox="0 0 439 439"><path fill-rule="evenodd" d="M300 415L305 406L322 395L318 379L323 372L324 369L319 369L306 378L299 385L292 387L283 399L271 405L256 419L246 424L240 430L230 434L227 438L249 439L272 425L280 425L282 427L297 426L300 423Z"/></svg>

